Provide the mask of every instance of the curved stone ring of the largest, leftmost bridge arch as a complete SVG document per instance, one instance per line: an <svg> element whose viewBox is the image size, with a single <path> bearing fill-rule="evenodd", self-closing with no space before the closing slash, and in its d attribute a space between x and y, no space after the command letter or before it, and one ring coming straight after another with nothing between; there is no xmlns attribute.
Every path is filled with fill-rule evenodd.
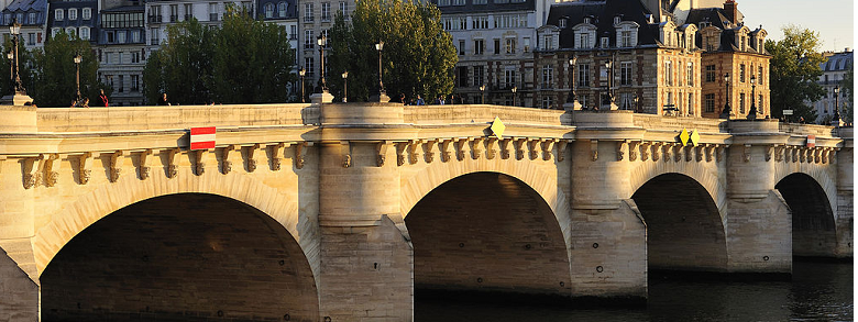
<svg viewBox="0 0 858 322"><path fill-rule="evenodd" d="M37 274L42 275L52 258L75 235L117 210L161 196L209 193L241 201L283 225L300 245L304 256L309 262L312 276L318 276L318 252L308 253L307 249L318 249L319 241L315 237L316 231L309 224L311 219L299 215L296 197L286 196L250 176L238 174L212 173L179 177L168 179L153 176L147 180L123 178L116 184L103 184L79 196L76 201L66 204L61 211L51 214L48 222L38 229L33 237ZM318 280L316 284L318 289Z"/></svg>

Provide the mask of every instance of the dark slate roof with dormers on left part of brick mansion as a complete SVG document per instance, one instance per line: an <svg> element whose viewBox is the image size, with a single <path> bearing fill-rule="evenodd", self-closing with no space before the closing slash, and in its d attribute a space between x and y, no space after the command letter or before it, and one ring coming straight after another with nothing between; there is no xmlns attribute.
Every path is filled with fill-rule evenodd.
<svg viewBox="0 0 858 322"><path fill-rule="evenodd" d="M591 22L596 26L596 42L607 36L610 43L615 44L614 16L622 15L623 21L634 21L640 25L638 45L658 45L658 24L648 24L648 14L650 11L639 0L583 0L551 5L546 24L560 26L560 19L568 19L566 27L560 30L560 48L573 48L575 37L572 27L584 22L585 16L592 15L595 18Z"/></svg>

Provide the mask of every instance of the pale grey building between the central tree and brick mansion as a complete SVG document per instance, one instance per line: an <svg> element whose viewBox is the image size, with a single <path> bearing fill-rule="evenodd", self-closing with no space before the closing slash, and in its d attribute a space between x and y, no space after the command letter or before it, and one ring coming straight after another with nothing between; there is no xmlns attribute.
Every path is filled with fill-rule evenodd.
<svg viewBox="0 0 858 322"><path fill-rule="evenodd" d="M465 103L536 107L534 49L544 0L432 0L459 53L454 92ZM515 90L515 91L514 91Z"/></svg>

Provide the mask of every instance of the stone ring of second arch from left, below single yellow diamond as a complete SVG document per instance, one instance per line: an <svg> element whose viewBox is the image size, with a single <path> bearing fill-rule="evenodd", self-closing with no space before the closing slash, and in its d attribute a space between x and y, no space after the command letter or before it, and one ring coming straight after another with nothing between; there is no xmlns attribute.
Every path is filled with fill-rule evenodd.
<svg viewBox="0 0 858 322"><path fill-rule="evenodd" d="M402 195L399 199L400 213L403 218L405 218L417 202L435 190L435 188L440 187L451 179L474 173L498 173L520 180L539 193L554 213L554 218L563 234L563 240L565 241L566 246L570 246L572 241L572 233L570 231L572 219L570 218L570 207L566 193L558 186L558 178L560 176L557 173L551 174L546 171L534 163L541 163L541 160L504 160L499 157L495 157L491 160L466 159L463 162L450 160L447 163L432 163L414 175L403 178ZM551 167L557 171L558 167L556 164L552 163Z"/></svg>

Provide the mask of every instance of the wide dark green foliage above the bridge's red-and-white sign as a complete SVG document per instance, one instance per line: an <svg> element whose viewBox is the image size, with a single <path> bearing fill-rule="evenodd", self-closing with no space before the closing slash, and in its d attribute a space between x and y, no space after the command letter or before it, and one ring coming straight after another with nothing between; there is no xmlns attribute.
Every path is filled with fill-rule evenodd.
<svg viewBox="0 0 858 322"><path fill-rule="evenodd" d="M148 103L162 92L180 104L284 102L294 57L282 26L229 8L220 29L197 20L167 27L143 70L144 93Z"/></svg>

